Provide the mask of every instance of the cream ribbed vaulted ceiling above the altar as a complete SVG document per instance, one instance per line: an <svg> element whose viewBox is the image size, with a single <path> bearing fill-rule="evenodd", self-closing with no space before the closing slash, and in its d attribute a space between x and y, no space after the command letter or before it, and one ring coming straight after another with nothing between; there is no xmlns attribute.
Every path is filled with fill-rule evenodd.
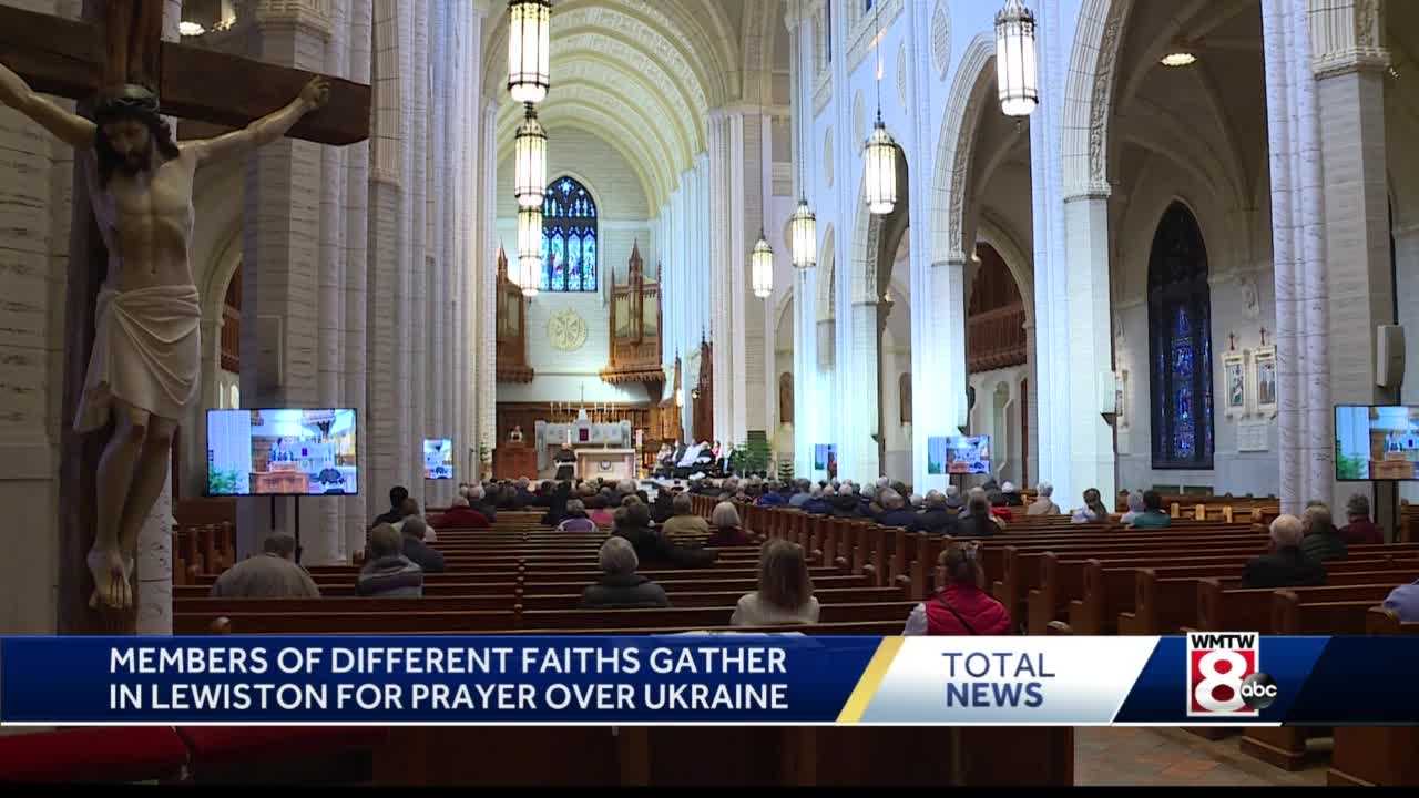
<svg viewBox="0 0 1419 798"><path fill-rule="evenodd" d="M788 74L786 43L780 0L553 0L552 89L538 116L552 148L558 129L604 139L658 206L705 149L710 111L759 102L772 72ZM507 95L507 51L499 14L484 40L484 94L502 101L504 159L524 114Z"/></svg>

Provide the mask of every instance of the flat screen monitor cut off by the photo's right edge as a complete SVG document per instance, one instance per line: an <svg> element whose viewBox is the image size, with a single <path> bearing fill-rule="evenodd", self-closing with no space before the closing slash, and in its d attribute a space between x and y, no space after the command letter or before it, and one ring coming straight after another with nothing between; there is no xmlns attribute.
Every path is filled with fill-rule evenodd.
<svg viewBox="0 0 1419 798"><path fill-rule="evenodd" d="M1337 405L1335 480L1419 480L1419 406Z"/></svg>

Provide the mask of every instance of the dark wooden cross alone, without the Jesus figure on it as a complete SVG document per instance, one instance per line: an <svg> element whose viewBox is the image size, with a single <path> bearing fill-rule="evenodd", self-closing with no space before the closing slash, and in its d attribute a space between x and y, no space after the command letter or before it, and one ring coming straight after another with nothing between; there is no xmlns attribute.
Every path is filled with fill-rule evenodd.
<svg viewBox="0 0 1419 798"><path fill-rule="evenodd" d="M245 126L284 106L316 75L240 55L162 41L163 3L85 0L84 21L0 7L0 61L38 92L91 102L104 88L146 85L162 112L219 126ZM369 138L370 88L326 77L329 102L305 115L289 136L329 145ZM102 434L72 430L94 348L94 310L108 253L94 222L88 182L75 160L74 224L64 335L64 419L60 473L58 628L61 632L131 632L136 615L89 609L94 589L85 555L95 534L95 471Z"/></svg>

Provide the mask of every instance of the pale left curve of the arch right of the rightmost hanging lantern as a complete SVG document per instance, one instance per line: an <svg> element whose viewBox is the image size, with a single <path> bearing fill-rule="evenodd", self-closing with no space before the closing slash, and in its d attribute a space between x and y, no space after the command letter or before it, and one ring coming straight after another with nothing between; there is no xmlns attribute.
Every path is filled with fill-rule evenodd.
<svg viewBox="0 0 1419 798"><path fill-rule="evenodd" d="M1064 196L1108 195L1108 116L1132 0L1084 0L1064 85Z"/></svg>

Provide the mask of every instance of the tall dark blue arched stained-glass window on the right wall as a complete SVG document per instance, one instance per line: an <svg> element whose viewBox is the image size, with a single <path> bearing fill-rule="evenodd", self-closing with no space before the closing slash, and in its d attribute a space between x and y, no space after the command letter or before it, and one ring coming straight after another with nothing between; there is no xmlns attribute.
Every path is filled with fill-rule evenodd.
<svg viewBox="0 0 1419 798"><path fill-rule="evenodd" d="M1148 257L1152 467L1212 469L1212 298L1192 212L1162 214Z"/></svg>

